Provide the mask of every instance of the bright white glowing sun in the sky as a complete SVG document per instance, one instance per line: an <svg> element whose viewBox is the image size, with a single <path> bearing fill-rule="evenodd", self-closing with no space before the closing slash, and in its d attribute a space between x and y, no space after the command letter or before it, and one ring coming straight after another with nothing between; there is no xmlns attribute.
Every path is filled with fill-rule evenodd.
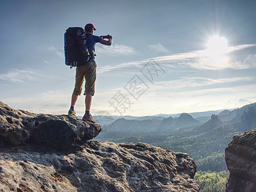
<svg viewBox="0 0 256 192"><path fill-rule="evenodd" d="M223 36L212 36L207 42L205 56L216 64L227 63L228 41Z"/></svg>

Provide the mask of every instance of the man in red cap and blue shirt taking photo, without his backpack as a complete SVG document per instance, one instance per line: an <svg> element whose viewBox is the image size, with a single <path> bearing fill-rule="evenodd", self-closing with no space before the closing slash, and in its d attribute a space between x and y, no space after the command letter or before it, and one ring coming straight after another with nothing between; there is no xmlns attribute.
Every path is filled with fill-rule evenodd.
<svg viewBox="0 0 256 192"><path fill-rule="evenodd" d="M76 68L76 84L74 88L74 92L72 93L71 98L71 106L68 110L68 115L75 115L74 106L76 104L76 101L78 99L78 95L81 95L82 88L83 88L83 81L85 78L85 90L84 95L85 96L85 113L83 116L83 120L86 122L92 122L95 123L95 121L92 118L92 115L90 114L90 109L92 105L92 96L95 93L95 80L97 76L96 72L96 62L95 62L95 44L99 42L103 45L111 45L113 42L112 36L96 36L93 35L93 32L96 29L94 28L93 24L86 24L84 27L84 31L87 36L87 46L88 51L90 52L90 59L88 62L84 63L84 65L78 66ZM108 38L108 40L104 40L103 38Z"/></svg>

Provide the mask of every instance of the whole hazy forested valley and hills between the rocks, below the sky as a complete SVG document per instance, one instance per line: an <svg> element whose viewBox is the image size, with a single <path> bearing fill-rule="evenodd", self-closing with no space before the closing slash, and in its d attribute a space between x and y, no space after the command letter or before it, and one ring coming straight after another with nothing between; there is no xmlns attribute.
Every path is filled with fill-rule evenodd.
<svg viewBox="0 0 256 192"><path fill-rule="evenodd" d="M119 118L103 126L97 141L143 142L188 153L197 164L195 179L201 191L225 191L228 170L225 148L235 134L256 128L256 103L212 114L209 120L182 113L179 117L151 116L143 120Z"/></svg>

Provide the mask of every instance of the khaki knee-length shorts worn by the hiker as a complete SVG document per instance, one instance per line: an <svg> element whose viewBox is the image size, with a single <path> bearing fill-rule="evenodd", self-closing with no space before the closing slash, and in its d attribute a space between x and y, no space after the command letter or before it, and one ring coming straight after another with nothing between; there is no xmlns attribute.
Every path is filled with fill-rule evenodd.
<svg viewBox="0 0 256 192"><path fill-rule="evenodd" d="M74 95L81 95L83 89L83 82L85 78L85 90L86 93L94 95L95 93L95 81L96 81L96 72L97 65L95 62L89 61L85 65L81 65L76 68L76 84L74 88Z"/></svg>

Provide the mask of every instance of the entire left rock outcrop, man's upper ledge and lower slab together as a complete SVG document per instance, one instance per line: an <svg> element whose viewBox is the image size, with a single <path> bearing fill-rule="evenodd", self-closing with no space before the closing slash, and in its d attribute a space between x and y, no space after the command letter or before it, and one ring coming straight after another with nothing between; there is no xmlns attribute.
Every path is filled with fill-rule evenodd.
<svg viewBox="0 0 256 192"><path fill-rule="evenodd" d="M188 154L87 141L100 126L0 106L0 191L199 191Z"/></svg>

